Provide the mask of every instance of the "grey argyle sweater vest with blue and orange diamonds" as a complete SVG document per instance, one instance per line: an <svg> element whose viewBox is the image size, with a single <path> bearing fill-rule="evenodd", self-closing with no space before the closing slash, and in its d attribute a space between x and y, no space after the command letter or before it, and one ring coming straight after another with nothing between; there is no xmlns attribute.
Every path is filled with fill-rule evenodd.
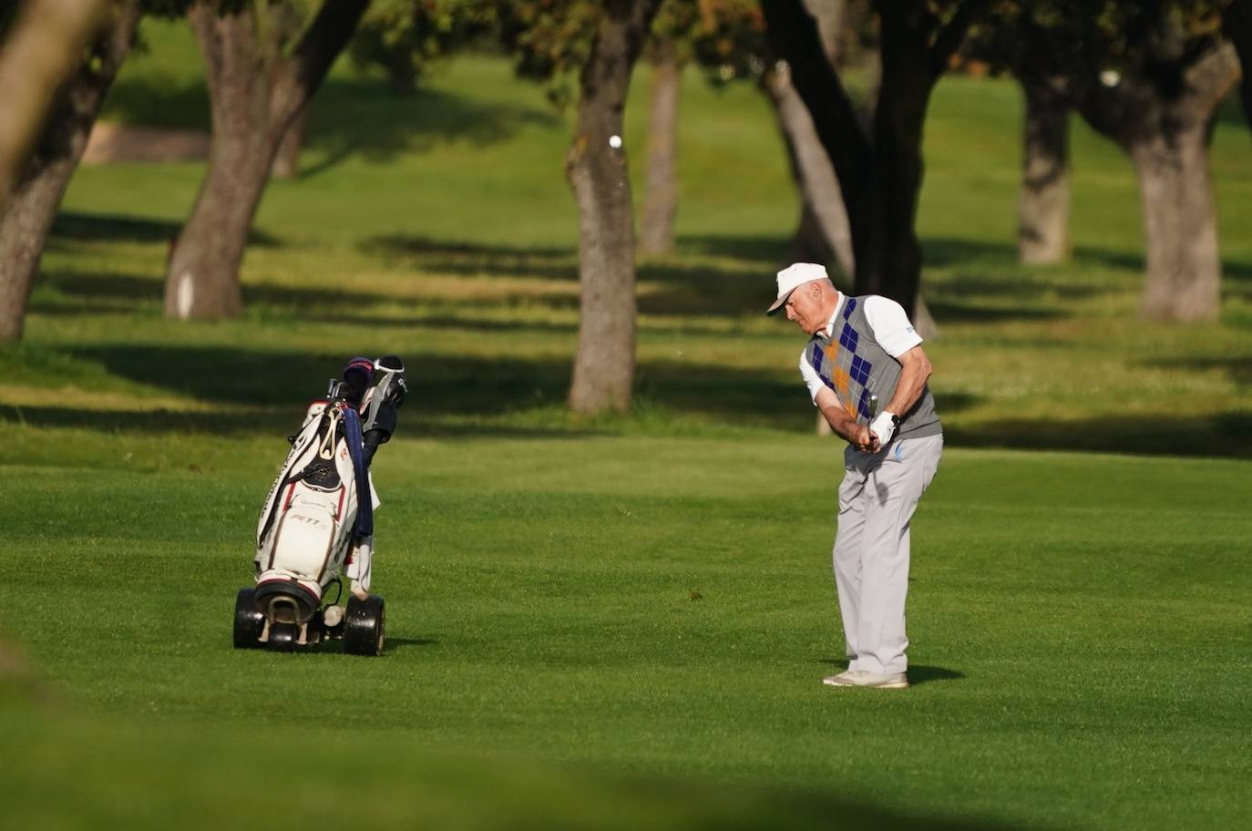
<svg viewBox="0 0 1252 831"><path fill-rule="evenodd" d="M839 398L848 416L858 424L869 424L869 397L878 395L879 412L886 409L900 380L900 363L874 340L873 329L865 320L863 299L845 297L844 308L835 319L834 335L813 335L804 357L818 372L821 383ZM943 433L929 385L921 389L913 409L896 416L900 416L900 427L895 431L899 438Z"/></svg>

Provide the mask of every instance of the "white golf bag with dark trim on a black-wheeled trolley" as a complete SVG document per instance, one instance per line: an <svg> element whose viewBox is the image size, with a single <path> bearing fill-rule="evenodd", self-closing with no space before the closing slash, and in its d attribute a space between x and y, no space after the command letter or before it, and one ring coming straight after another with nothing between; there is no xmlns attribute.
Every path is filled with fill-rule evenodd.
<svg viewBox="0 0 1252 831"><path fill-rule="evenodd" d="M369 593L378 504L369 464L396 431L407 392L399 358L353 358L309 404L260 512L257 582L235 597L235 648L342 640L349 655L382 653L383 598Z"/></svg>

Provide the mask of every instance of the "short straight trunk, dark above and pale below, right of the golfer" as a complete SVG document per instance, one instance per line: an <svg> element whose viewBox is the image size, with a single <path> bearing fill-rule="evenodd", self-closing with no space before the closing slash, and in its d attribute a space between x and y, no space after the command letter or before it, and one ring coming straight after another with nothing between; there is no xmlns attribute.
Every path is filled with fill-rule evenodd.
<svg viewBox="0 0 1252 831"><path fill-rule="evenodd" d="M1018 259L1069 258L1069 104L1049 79L1025 75Z"/></svg>

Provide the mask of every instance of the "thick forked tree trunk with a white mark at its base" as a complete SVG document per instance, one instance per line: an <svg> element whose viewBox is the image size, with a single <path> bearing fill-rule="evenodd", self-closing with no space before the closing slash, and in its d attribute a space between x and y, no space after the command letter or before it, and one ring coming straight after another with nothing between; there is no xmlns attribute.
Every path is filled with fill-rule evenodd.
<svg viewBox="0 0 1252 831"><path fill-rule="evenodd" d="M258 26L264 3L223 13L222 4L202 0L188 13L204 54L213 140L200 194L167 265L167 317L215 320L239 313L239 267L278 146L368 5L323 0L289 55L283 46L290 30L282 18Z"/></svg>

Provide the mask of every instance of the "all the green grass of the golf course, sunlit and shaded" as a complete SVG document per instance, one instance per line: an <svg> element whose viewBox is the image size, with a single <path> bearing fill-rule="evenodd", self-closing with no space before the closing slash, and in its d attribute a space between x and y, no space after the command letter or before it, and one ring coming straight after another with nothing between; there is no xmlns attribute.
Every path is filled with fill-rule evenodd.
<svg viewBox="0 0 1252 831"><path fill-rule="evenodd" d="M204 126L190 39L148 39L106 116ZM1214 134L1221 322L1144 325L1133 175L1080 125L1075 258L1014 262L1019 108L947 79L928 123L949 449L901 695L819 683L839 443L811 434L803 338L760 314L796 205L751 89L687 78L679 253L640 267L629 417L565 412L568 114L500 59L413 99L336 70L303 175L265 194L239 320L160 317L200 165L79 170L0 350L5 818L1247 825L1247 130ZM283 437L344 358L387 352L413 387L376 468L388 653L233 651Z"/></svg>

